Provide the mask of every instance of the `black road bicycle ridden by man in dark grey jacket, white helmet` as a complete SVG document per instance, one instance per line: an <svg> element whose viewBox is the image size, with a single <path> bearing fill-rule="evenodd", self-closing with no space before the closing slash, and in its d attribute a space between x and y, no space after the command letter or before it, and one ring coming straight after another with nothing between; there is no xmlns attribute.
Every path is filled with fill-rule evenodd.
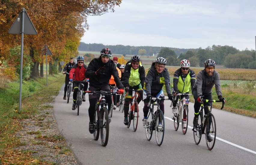
<svg viewBox="0 0 256 165"><path fill-rule="evenodd" d="M160 101L161 100L169 100L169 98L165 98L164 96L160 96L159 98L151 98L150 103L148 104L149 113L148 113L148 128L146 128L146 137L147 140L150 141L152 137L152 133L156 131L156 141L157 145L161 146L163 143L164 137L164 116L163 111L160 110ZM157 106L157 111L154 112L154 106ZM156 124L157 123L157 124Z"/></svg>

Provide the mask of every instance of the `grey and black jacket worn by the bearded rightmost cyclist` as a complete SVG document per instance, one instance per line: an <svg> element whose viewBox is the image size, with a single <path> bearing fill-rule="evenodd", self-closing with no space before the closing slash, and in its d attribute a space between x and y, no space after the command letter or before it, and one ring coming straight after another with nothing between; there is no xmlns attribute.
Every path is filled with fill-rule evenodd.
<svg viewBox="0 0 256 165"><path fill-rule="evenodd" d="M201 70L197 74L197 82L194 85L194 89L197 90L197 97L202 96L203 94L210 94L212 93L212 87L215 84L216 93L217 95L221 95L221 81L220 75L217 71L214 70L212 76L208 76L205 73L205 70Z"/></svg>

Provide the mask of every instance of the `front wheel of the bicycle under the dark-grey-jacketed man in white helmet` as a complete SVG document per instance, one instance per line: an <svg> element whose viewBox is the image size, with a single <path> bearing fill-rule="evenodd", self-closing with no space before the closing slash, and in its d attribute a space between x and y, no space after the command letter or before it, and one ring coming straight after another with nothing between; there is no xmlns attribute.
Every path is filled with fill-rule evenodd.
<svg viewBox="0 0 256 165"><path fill-rule="evenodd" d="M157 145L161 146L161 144L163 143L164 136L164 117L163 112L161 110L157 112L155 128Z"/></svg>

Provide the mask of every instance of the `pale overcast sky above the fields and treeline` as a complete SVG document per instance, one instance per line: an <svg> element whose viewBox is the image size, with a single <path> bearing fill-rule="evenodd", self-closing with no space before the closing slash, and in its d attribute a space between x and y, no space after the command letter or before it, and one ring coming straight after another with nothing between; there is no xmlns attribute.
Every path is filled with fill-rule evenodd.
<svg viewBox="0 0 256 165"><path fill-rule="evenodd" d="M87 21L87 44L255 50L255 0L123 0Z"/></svg>

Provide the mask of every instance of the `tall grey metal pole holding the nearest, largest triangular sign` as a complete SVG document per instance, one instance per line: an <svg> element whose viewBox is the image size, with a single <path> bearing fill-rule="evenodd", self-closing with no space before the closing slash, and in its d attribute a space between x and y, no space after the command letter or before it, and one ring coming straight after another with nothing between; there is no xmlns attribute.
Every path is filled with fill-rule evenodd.
<svg viewBox="0 0 256 165"><path fill-rule="evenodd" d="M23 38L24 38L24 12L25 8L22 8L22 20L21 20L21 52L20 52L20 100L19 100L19 112L21 110L21 93L22 93L22 68L23 68Z"/></svg>

